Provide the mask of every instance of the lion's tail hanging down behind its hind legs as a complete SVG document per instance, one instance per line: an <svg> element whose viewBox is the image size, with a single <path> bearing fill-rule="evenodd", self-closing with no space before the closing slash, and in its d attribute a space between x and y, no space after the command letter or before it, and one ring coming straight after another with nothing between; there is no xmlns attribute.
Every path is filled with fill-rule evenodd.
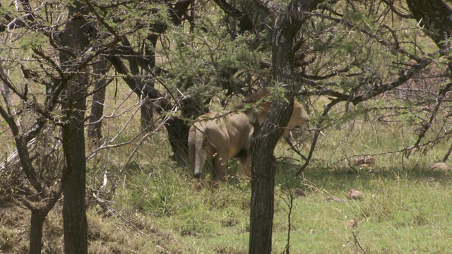
<svg viewBox="0 0 452 254"><path fill-rule="evenodd" d="M204 138L204 131L199 129L199 126L191 126L189 132L190 168L196 178L201 177L206 161L206 150L203 147Z"/></svg>

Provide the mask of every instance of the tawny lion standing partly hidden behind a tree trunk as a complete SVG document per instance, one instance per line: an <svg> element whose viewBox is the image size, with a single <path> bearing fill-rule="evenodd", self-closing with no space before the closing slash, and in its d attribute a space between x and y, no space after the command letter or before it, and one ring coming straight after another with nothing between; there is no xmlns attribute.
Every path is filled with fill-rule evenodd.
<svg viewBox="0 0 452 254"><path fill-rule="evenodd" d="M236 112L210 112L199 116L189 131L190 167L196 179L201 179L207 158L213 159L213 181L221 181L228 159L239 160L239 174L251 177L250 146L253 137L253 123L261 124L268 114L270 102L261 104L256 110L245 109ZM294 101L292 115L283 131L289 140L292 130L309 121L301 103Z"/></svg>

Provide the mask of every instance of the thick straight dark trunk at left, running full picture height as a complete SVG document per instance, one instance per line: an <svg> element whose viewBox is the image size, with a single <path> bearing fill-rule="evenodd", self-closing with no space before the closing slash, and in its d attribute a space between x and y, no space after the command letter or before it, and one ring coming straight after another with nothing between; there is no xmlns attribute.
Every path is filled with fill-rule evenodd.
<svg viewBox="0 0 452 254"><path fill-rule="evenodd" d="M69 5L69 22L61 35L61 43L72 54L61 52L61 63L66 68L66 89L62 96L61 109L64 115L62 128L63 151L66 165L63 170L64 200L64 253L88 253L88 224L85 213L85 100L88 87L86 66L80 66L80 59L71 55L83 56L89 45L90 24L83 14L88 10L81 2ZM79 60L79 61L77 61Z"/></svg>

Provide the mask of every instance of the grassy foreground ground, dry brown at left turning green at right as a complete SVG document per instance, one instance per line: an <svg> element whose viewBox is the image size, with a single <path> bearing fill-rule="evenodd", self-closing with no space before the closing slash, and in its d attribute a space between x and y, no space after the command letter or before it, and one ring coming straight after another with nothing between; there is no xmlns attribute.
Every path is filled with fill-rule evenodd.
<svg viewBox="0 0 452 254"><path fill-rule="evenodd" d="M88 209L90 253L247 253L249 186L194 190L191 179L177 171L182 169L148 170L128 174L130 180L117 191L112 214L97 206ZM361 174L347 169L309 170L304 179L290 181L292 189L297 186L306 193L293 200L291 253L451 253L448 178L445 172L421 168ZM283 253L287 244L290 196L284 179L279 175L274 253ZM345 199L351 188L362 191L364 198ZM346 201L329 201L331 196ZM15 209L2 209L11 219L22 214L16 224L5 222L2 214L4 253L18 253L13 244L23 246L25 252L26 241L14 239L13 231L7 230L8 226L19 233L23 230L22 234L27 230L27 212ZM46 253L61 250L60 218L59 209L49 215L45 241L52 247ZM347 225L352 219L357 226Z"/></svg>

